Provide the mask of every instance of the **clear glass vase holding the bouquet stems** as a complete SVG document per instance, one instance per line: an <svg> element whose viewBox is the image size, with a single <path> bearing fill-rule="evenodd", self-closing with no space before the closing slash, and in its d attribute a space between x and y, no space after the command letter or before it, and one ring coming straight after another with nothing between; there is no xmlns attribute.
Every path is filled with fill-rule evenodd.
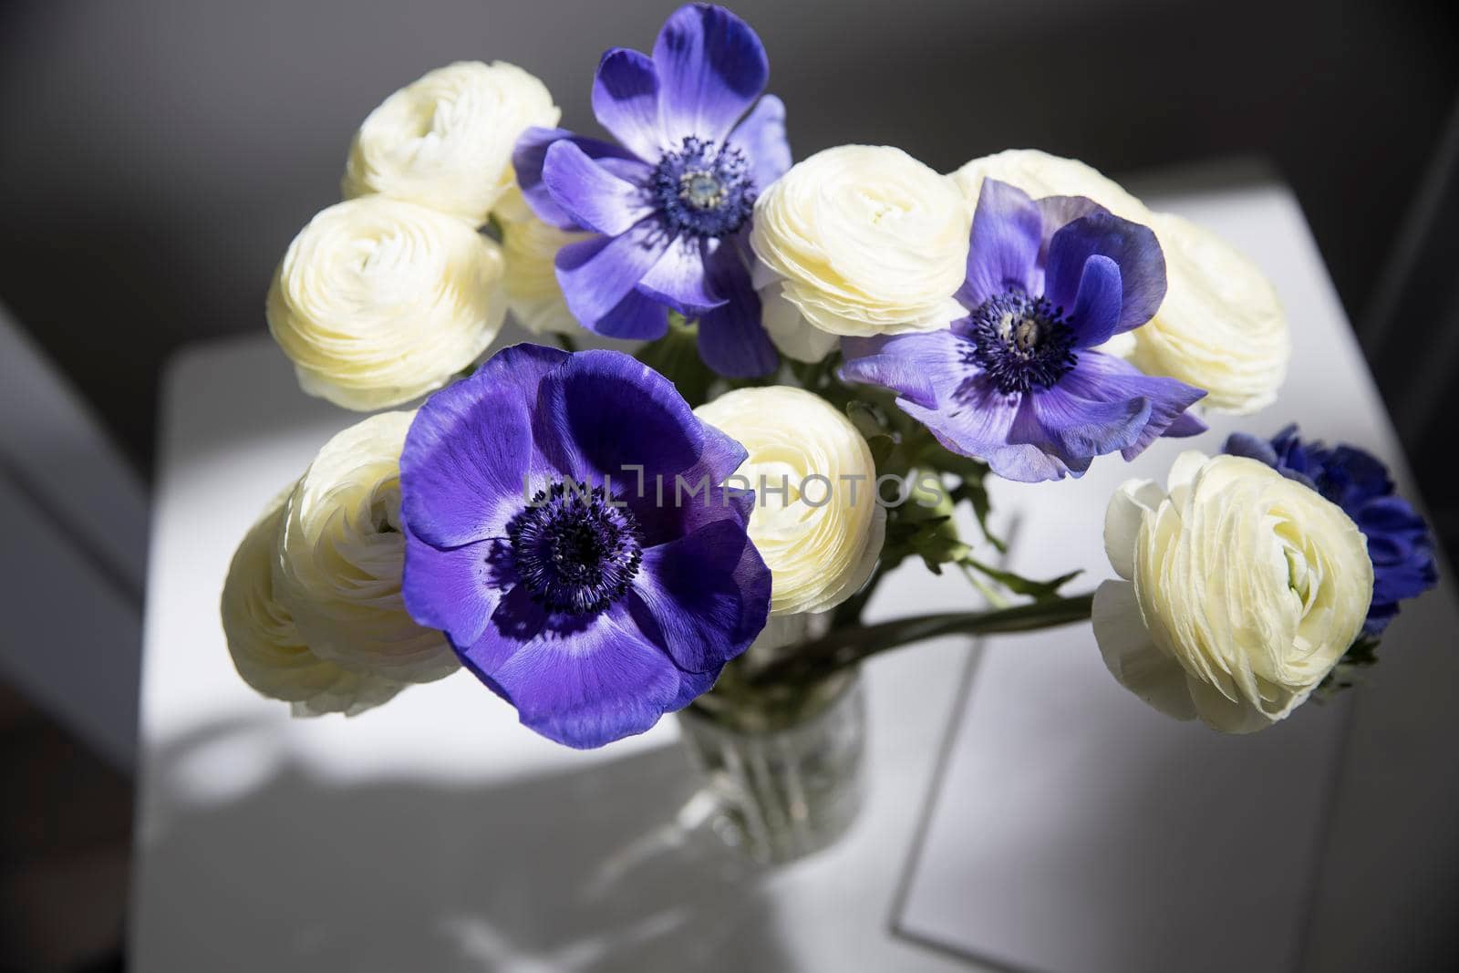
<svg viewBox="0 0 1459 973"><path fill-rule="evenodd" d="M776 633L767 633L772 637ZM867 705L859 670L773 689L744 680L748 662L794 652L757 642L715 689L680 712L684 744L713 798L719 837L778 865L840 839L861 808Z"/></svg>

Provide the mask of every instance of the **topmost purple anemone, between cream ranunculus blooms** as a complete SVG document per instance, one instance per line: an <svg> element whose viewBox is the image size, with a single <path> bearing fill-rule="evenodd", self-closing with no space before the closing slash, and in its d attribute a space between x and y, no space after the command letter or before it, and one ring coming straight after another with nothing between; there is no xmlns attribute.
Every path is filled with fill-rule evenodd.
<svg viewBox="0 0 1459 973"><path fill-rule="evenodd" d="M522 134L514 165L537 216L600 233L557 254L585 328L654 340L673 308L699 319L699 353L721 375L775 371L747 242L756 194L791 168L785 105L760 98L769 73L744 20L686 6L652 58L614 48L598 64L592 112L622 147L562 128Z"/></svg>

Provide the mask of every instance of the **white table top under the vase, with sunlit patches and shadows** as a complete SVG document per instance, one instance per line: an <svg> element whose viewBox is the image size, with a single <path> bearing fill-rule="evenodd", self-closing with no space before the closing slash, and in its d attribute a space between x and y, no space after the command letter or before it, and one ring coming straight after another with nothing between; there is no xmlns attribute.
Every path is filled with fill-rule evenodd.
<svg viewBox="0 0 1459 973"><path fill-rule="evenodd" d="M1249 252L1291 314L1297 357L1282 403L1247 426L1269 432L1299 417L1313 435L1398 462L1406 483L1290 194L1250 187L1166 209ZM261 505L357 417L299 392L267 337L184 353L162 416L131 969L980 969L894 931L938 750L961 716L967 640L868 667L872 785L855 830L823 855L763 872L697 826L673 719L579 753L521 728L464 672L355 719L293 721L255 696L233 672L217 621L229 557ZM1217 449L1220 436L1198 445ZM1158 445L1163 458L1151 462L1179 448ZM1037 518L1017 492L1004 496ZM1065 522L1097 535L1103 499L1075 490L1061 503ZM1091 584L1107 576L1102 562L1069 566L1087 567ZM970 602L963 579L909 566L871 614ZM1306 969L1379 969L1452 937L1456 621L1447 591L1405 610L1383 665L1351 702L1326 823L1284 823L1326 827ZM1018 651L1018 640L986 651ZM1059 934L1058 916L1046 925Z"/></svg>

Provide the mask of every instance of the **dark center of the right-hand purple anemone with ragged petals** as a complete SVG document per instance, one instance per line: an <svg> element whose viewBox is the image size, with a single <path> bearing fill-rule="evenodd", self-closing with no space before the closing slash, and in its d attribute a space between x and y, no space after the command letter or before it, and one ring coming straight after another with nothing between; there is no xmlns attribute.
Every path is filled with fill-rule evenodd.
<svg viewBox="0 0 1459 973"><path fill-rule="evenodd" d="M976 365L999 392L1052 388L1074 368L1074 328L1048 298L1008 290L989 298L963 325L963 360Z"/></svg>

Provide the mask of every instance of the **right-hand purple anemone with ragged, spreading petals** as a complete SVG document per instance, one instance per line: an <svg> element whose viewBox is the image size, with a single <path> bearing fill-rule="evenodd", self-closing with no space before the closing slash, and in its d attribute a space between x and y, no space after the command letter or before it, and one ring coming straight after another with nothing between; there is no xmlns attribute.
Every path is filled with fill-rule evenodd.
<svg viewBox="0 0 1459 973"><path fill-rule="evenodd" d="M1156 235L1084 197L1032 200L985 179L973 216L969 317L947 330L842 343L842 378L897 392L937 439L1010 480L1083 476L1158 436L1205 430L1204 391L1093 350L1166 295Z"/></svg>

